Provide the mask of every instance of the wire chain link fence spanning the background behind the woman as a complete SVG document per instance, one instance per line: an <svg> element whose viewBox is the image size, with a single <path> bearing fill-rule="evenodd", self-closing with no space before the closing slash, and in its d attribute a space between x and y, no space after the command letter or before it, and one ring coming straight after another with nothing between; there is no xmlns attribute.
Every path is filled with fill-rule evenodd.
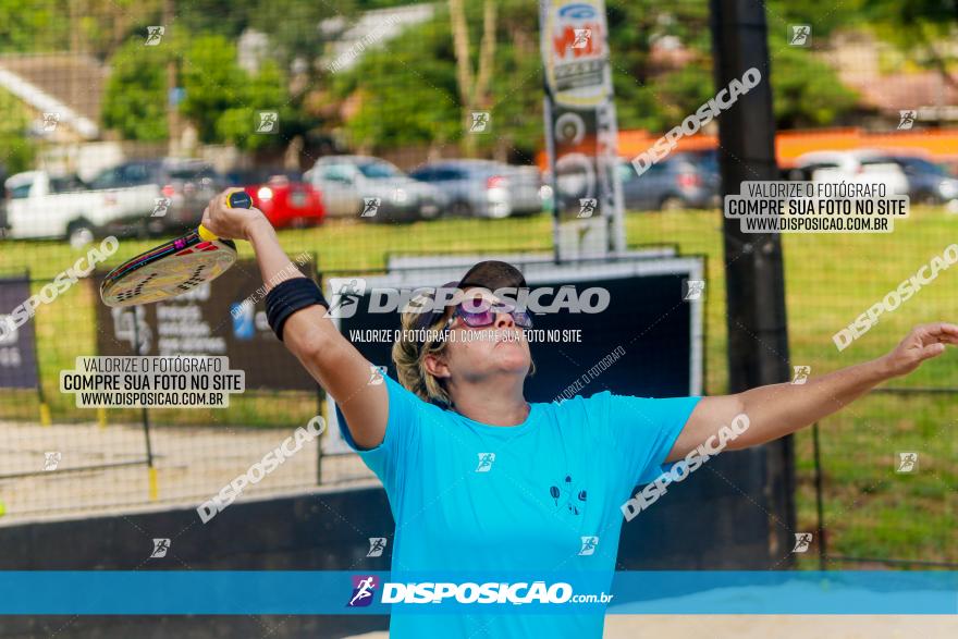
<svg viewBox="0 0 958 639"><path fill-rule="evenodd" d="M789 364L800 378L879 357L916 323L955 319L955 269L922 275L908 299L889 294L933 260L947 263L954 245L958 51L941 30L954 16L901 22L904 2L795 4L767 3L764 79L783 179L869 175L911 200L893 233L785 235ZM629 163L714 98L709 5L606 5L625 245L650 261L702 258L701 389L721 394L716 125L642 175ZM246 188L291 258L310 256L304 272L324 283L435 256L460 256L445 269L459 275L467 257L588 251L576 220L584 176L548 171L535 3L44 1L0 11L16 35L0 45L0 314L41 299L0 342L0 525L199 503L314 416L330 417L298 364L267 344L261 300L246 323L231 311L261 284L244 243L230 294L210 287L217 308L193 299L142 318L99 308L98 277L195 225L226 186ZM30 37L17 25L33 25ZM119 248L95 273L61 275L106 236ZM603 268L578 266L597 278ZM56 295L44 293L51 285ZM880 321L848 337L876 304ZM131 327L151 332L151 355L245 353L258 381L223 409L77 408L61 371L111 348L133 354L142 335ZM955 357L796 435L790 532L813 534L800 565L958 562ZM324 455L314 441L244 496L355 479L371 479L355 455Z"/></svg>

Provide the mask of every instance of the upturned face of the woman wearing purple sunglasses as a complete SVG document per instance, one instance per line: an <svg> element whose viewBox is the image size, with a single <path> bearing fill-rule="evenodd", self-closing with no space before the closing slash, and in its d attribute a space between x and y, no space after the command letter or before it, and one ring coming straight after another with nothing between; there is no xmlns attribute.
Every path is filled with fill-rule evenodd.
<svg viewBox="0 0 958 639"><path fill-rule="evenodd" d="M466 299L476 297L482 297L490 305L498 302L494 295L484 290L466 292ZM454 310L455 307L446 310L446 320L453 317ZM525 331L516 325L508 312L495 312L494 318L491 325L482 328L471 328L463 318L455 318L450 325L441 358L444 366L439 364L437 367L449 373L447 380L453 383L457 380L475 383L501 373L514 373L519 383L526 379L532 356Z"/></svg>

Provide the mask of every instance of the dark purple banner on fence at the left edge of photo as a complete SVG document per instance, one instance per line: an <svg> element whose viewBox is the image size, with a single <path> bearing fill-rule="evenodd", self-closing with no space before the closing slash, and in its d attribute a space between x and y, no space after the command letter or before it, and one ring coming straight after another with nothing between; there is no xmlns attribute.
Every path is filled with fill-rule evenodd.
<svg viewBox="0 0 958 639"><path fill-rule="evenodd" d="M37 358L34 318L16 325L13 309L30 296L26 278L0 278L0 388L36 389Z"/></svg>

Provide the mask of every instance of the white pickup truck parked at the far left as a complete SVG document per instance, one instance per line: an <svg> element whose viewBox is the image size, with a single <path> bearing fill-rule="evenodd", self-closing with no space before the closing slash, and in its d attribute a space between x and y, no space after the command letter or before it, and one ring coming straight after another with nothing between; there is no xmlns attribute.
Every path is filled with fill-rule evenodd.
<svg viewBox="0 0 958 639"><path fill-rule="evenodd" d="M5 187L9 237L65 237L75 246L112 224L149 217L162 197L156 184L88 188L46 171L12 175Z"/></svg>

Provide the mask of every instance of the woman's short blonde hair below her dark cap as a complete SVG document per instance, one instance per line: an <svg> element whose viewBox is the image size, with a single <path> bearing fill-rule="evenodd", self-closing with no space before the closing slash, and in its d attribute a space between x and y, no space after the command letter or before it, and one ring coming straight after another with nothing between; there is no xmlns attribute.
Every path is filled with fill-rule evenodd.
<svg viewBox="0 0 958 639"><path fill-rule="evenodd" d="M423 302L421 298L423 297L426 302L431 302L431 296L420 294L413 298L406 308L421 304ZM446 391L445 383L441 379L430 374L430 372L426 370L425 365L427 355L442 356L449 347L449 342L444 340L425 342L420 347L419 343L415 340L404 339L405 335L415 335L418 332L416 331L417 328L431 331L439 330L439 328L446 322L446 314L443 314L442 317L430 327L416 327L416 320L419 319L420 315L421 314L416 312L415 310L407 310L401 316L402 330L400 331L395 343L393 343L392 352L393 364L396 365L396 377L398 377L400 383L403 384L406 390L415 393L420 400L438 404L443 408L451 408L453 406L453 400L450 396L449 391ZM526 377L531 377L533 374L536 374L535 361L531 362L529 373Z"/></svg>

